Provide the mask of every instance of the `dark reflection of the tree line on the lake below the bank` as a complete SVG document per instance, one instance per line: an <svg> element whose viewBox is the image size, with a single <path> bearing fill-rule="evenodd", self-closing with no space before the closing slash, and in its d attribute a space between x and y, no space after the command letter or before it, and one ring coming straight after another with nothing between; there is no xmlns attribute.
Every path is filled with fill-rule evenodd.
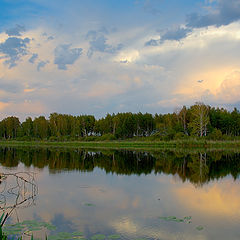
<svg viewBox="0 0 240 240"><path fill-rule="evenodd" d="M106 173L178 175L182 181L201 186L228 174L236 179L240 171L240 154L225 152L176 153L138 152L127 150L87 151L82 149L0 148L0 163L6 167L48 167L51 173L78 170L93 171L98 167Z"/></svg>

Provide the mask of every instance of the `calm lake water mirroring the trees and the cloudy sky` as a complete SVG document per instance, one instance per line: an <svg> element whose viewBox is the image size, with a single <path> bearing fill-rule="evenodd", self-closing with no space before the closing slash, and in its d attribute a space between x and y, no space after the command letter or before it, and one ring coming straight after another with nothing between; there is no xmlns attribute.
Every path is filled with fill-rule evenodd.
<svg viewBox="0 0 240 240"><path fill-rule="evenodd" d="M239 153L0 148L0 164L6 225L56 226L40 239L240 239Z"/></svg>

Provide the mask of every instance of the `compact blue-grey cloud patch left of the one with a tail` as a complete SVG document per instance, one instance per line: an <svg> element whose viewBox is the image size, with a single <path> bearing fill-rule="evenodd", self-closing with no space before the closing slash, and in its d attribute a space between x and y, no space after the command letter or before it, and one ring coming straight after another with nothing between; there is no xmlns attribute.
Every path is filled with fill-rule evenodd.
<svg viewBox="0 0 240 240"><path fill-rule="evenodd" d="M54 64L58 69L67 70L67 65L72 65L82 55L82 48L70 48L71 44L62 44L54 50Z"/></svg>

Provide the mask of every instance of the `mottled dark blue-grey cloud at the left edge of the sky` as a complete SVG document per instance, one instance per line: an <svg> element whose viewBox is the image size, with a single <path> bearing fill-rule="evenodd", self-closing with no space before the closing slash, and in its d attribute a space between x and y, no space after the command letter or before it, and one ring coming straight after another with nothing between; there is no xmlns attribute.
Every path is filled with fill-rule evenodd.
<svg viewBox="0 0 240 240"><path fill-rule="evenodd" d="M28 43L30 43L29 38L17 37L9 37L5 42L0 43L0 53L7 59L5 64L9 65L9 68L16 66L16 62L27 54Z"/></svg>

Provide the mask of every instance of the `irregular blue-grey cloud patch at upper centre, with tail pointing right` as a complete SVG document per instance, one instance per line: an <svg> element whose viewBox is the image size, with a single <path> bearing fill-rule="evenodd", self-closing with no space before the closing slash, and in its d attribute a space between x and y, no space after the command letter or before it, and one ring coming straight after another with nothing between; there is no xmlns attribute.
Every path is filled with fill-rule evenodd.
<svg viewBox="0 0 240 240"><path fill-rule="evenodd" d="M123 48L122 44L118 44L117 46L108 44L108 39L104 34L108 34L108 30L106 28L101 28L98 31L91 30L87 33L86 39L90 40L90 47L87 52L89 58L92 57L94 52L116 53Z"/></svg>

